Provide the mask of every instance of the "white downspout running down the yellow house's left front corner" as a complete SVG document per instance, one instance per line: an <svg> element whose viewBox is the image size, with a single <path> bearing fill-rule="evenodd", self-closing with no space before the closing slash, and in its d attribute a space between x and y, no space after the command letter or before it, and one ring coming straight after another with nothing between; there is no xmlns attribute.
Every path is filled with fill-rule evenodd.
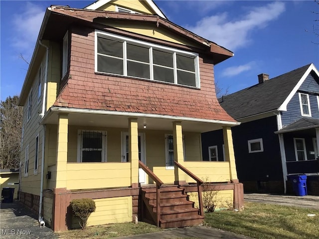
<svg viewBox="0 0 319 239"><path fill-rule="evenodd" d="M45 113L45 100L46 100L46 85L48 80L48 62L49 62L49 47L42 44L41 40L39 40L39 44L46 48L46 56L45 56L45 75L44 75L44 86L43 86L43 103L42 103L42 113L41 119L44 117ZM43 175L44 175L44 144L45 144L45 124L43 124L42 129L42 159L41 159L41 184L40 184L40 202L39 202L39 223L40 227L44 227L45 223L42 214L42 200L43 200Z"/></svg>

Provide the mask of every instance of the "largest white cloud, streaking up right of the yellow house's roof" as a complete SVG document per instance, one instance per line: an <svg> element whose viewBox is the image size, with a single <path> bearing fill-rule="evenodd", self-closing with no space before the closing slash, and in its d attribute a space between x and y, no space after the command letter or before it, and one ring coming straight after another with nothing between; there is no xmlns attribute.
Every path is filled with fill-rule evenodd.
<svg viewBox="0 0 319 239"><path fill-rule="evenodd" d="M285 10L285 3L275 1L265 6L254 7L246 15L237 20L229 20L227 12L207 16L187 26L190 31L209 39L230 50L246 46L251 39L249 32L276 19Z"/></svg>

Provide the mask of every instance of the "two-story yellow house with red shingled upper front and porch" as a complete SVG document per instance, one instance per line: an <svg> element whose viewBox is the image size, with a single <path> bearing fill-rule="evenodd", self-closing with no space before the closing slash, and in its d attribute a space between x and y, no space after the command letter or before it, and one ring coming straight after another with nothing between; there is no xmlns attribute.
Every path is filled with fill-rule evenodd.
<svg viewBox="0 0 319 239"><path fill-rule="evenodd" d="M89 226L200 224L203 179L241 208L238 122L216 99L213 71L231 56L152 0L48 7L20 94L20 201L54 231L72 227L79 198L96 203ZM203 161L201 133L219 128L226 160Z"/></svg>

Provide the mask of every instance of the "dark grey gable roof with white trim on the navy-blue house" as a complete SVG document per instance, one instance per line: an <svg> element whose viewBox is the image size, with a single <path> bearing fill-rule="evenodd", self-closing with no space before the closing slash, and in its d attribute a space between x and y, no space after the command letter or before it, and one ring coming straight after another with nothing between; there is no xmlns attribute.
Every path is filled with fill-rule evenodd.
<svg viewBox="0 0 319 239"><path fill-rule="evenodd" d="M311 71L319 76L314 64L256 84L219 99L220 105L234 119L242 119L270 111L287 111L287 104Z"/></svg>

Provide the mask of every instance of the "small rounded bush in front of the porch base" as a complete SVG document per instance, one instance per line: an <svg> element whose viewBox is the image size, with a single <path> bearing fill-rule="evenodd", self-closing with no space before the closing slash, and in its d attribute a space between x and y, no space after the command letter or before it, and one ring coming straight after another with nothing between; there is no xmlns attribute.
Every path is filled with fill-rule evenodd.
<svg viewBox="0 0 319 239"><path fill-rule="evenodd" d="M70 206L73 216L80 220L81 228L86 229L89 216L95 212L95 202L88 198L74 199L71 201Z"/></svg>

